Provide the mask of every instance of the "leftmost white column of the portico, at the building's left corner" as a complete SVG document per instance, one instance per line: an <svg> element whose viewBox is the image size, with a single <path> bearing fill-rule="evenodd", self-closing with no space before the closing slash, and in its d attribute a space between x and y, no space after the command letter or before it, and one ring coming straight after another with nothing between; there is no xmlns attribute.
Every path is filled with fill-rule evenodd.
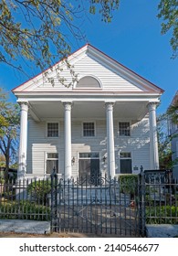
<svg viewBox="0 0 178 256"><path fill-rule="evenodd" d="M20 142L18 151L18 178L26 175L27 112L28 103L20 102Z"/></svg>

